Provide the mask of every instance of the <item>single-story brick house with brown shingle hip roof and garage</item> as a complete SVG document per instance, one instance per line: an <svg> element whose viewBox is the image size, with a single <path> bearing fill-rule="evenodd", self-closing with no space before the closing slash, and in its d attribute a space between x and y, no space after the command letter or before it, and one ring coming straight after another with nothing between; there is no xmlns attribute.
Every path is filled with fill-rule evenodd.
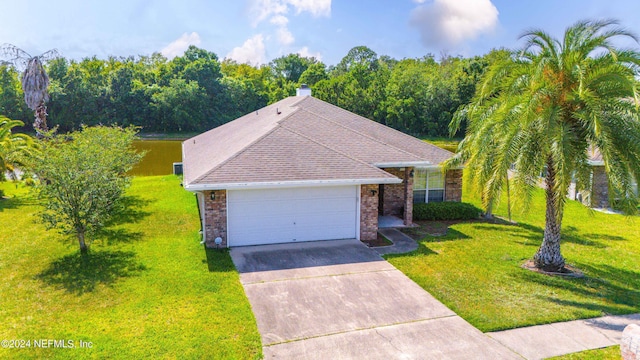
<svg viewBox="0 0 640 360"><path fill-rule="evenodd" d="M460 201L453 154L311 96L292 96L182 144L203 240L223 247L377 237L417 202Z"/></svg>

